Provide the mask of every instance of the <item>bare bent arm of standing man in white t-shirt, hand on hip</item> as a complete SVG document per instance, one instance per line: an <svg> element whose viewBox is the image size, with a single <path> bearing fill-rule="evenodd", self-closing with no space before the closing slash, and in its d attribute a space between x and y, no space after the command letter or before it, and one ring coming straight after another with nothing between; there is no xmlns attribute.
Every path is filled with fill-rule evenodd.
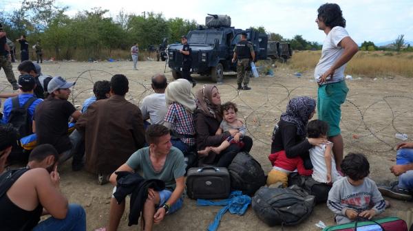
<svg viewBox="0 0 413 231"><path fill-rule="evenodd" d="M324 83L328 76L332 76L337 68L348 63L354 54L359 51L359 46L349 36L342 39L338 45L343 47L344 52L341 54L340 58L337 59L335 64L321 76L320 83Z"/></svg>

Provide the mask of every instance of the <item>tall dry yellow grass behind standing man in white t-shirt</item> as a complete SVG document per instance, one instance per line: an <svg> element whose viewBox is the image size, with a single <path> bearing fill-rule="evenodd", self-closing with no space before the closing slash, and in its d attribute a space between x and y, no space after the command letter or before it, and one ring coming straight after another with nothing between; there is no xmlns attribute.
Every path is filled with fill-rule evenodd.
<svg viewBox="0 0 413 231"><path fill-rule="evenodd" d="M288 66L297 72L312 71L317 65L321 51L294 52ZM410 52L358 52L348 63L346 74L352 76L413 77L413 53Z"/></svg>

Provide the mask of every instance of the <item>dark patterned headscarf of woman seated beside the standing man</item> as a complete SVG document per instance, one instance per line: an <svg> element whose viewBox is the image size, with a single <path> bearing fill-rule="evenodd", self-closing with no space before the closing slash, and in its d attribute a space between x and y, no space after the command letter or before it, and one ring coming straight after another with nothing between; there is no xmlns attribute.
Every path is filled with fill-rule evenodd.
<svg viewBox="0 0 413 231"><path fill-rule="evenodd" d="M311 113L315 110L315 100L307 96L292 98L288 102L285 113L282 113L280 120L290 122L297 126L297 135L305 136L307 124Z"/></svg>

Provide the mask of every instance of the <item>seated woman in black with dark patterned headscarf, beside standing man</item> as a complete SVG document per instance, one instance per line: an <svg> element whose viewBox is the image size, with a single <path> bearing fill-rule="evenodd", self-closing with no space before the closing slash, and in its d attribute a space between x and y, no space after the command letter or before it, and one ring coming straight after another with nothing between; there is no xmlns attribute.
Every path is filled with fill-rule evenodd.
<svg viewBox="0 0 413 231"><path fill-rule="evenodd" d="M307 96L292 98L288 102L286 112L279 119L278 129L274 129L271 153L285 151L286 157L301 157L306 169L313 168L308 150L327 142L323 138L306 139L308 120L313 118L315 106L315 100Z"/></svg>

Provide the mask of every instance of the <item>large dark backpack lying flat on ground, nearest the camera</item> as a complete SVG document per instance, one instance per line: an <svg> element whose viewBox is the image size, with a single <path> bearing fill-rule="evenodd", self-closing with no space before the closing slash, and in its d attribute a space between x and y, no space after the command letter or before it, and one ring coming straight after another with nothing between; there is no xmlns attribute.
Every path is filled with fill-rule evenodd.
<svg viewBox="0 0 413 231"><path fill-rule="evenodd" d="M315 206L315 197L299 186L288 188L260 188L253 197L252 207L269 226L297 225L304 221Z"/></svg>

